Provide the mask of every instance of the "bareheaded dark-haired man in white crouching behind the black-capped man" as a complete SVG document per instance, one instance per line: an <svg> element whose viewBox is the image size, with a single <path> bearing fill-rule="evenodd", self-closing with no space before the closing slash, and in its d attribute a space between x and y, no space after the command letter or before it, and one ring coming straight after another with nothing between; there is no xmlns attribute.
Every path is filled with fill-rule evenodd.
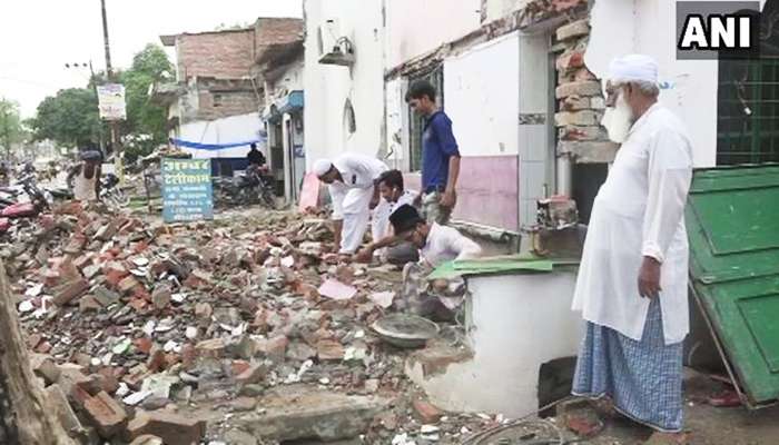
<svg viewBox="0 0 779 445"><path fill-rule="evenodd" d="M413 205L416 198L416 192L406 190L403 186L403 172L401 170L387 170L378 177L378 192L382 198L387 202L381 214L379 211L374 212L374 217L378 220L387 220L389 215L392 215L398 207L408 204ZM387 224L387 231L379 239L373 239L371 244L365 246L357 253L356 259L358 261L371 261L375 253L382 253L384 248L387 248L387 260L393 264L405 264L408 261L415 261L413 258L415 255L411 255L410 245L407 243L389 248L388 246L396 245L400 239L395 236L394 230L392 230ZM415 254L415 253L414 253Z"/></svg>

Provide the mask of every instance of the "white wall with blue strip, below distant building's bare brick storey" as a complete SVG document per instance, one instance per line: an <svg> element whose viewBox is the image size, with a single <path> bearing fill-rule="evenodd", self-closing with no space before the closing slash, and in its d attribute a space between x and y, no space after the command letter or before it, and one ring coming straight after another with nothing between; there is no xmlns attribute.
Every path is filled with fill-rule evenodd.
<svg viewBox="0 0 779 445"><path fill-rule="evenodd" d="M179 128L179 137L184 140L199 144L244 142L257 139L262 127L259 113L250 112L217 120L200 120L184 123ZM258 148L260 151L267 154L265 147L258 146ZM194 150L189 148L184 148L184 150L193 154L193 157L196 159L243 158L249 151L249 148L237 147L218 151Z"/></svg>

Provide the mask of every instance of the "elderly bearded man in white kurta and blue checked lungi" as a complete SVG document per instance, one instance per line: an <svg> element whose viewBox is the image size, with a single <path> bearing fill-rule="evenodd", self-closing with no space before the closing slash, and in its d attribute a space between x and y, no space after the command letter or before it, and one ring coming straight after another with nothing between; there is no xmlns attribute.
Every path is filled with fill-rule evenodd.
<svg viewBox="0 0 779 445"><path fill-rule="evenodd" d="M610 398L655 429L648 443L683 443L690 137L658 103L650 57L615 59L607 90L603 125L621 147L595 198L576 281L573 308L586 330L573 394Z"/></svg>

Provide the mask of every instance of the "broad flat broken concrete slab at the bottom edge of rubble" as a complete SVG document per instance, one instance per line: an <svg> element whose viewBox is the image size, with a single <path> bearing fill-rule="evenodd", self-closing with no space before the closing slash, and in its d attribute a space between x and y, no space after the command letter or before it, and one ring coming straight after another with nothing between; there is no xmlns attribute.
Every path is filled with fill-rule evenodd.
<svg viewBox="0 0 779 445"><path fill-rule="evenodd" d="M282 387L263 397L265 414L236 418L234 424L255 436L274 441L352 438L367 431L389 399L347 396L303 385Z"/></svg>

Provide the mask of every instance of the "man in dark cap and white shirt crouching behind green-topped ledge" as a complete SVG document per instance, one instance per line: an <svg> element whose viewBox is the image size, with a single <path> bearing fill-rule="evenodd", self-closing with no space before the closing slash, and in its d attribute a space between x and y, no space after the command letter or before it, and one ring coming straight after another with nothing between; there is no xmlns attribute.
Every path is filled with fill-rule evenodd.
<svg viewBox="0 0 779 445"><path fill-rule="evenodd" d="M426 222L407 204L389 215L389 222L398 238L420 249L422 260L433 268L453 259L472 259L482 255L482 248L457 229Z"/></svg>

